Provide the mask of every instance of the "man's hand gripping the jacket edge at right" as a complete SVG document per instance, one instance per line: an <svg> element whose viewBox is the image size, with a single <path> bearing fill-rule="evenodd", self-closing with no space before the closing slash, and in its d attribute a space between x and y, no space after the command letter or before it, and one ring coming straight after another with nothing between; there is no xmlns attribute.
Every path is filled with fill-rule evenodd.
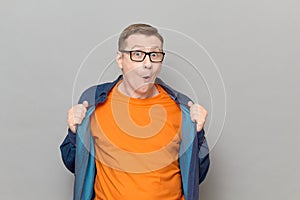
<svg viewBox="0 0 300 200"><path fill-rule="evenodd" d="M208 113L204 107L191 101L188 102L188 106L190 107L191 120L197 123L197 131L199 132L204 126Z"/></svg>

